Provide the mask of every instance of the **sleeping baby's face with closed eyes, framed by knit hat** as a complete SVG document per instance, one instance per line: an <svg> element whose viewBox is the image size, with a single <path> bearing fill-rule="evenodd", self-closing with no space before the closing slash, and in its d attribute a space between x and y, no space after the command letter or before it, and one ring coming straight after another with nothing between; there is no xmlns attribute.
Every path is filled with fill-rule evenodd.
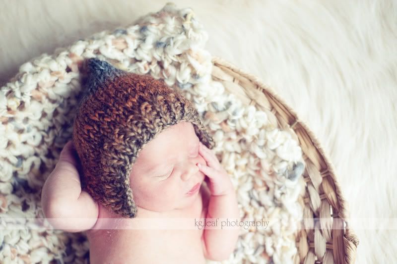
<svg viewBox="0 0 397 264"><path fill-rule="evenodd" d="M190 206L205 177L197 163L206 164L192 123L180 122L160 132L132 165L130 185L136 205L150 211Z"/></svg>

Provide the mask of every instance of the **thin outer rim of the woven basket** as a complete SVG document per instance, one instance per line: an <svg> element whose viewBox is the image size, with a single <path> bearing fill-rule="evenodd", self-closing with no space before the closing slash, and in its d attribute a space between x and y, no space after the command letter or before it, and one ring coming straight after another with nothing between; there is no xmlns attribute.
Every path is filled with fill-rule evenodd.
<svg viewBox="0 0 397 264"><path fill-rule="evenodd" d="M264 81L251 74L248 73L247 71L237 67L235 64L221 58L218 56L212 55L211 58L212 64L213 65L219 65L222 67L226 67L233 72L241 75L242 77L248 79L250 82L255 84L256 88L260 90L263 93L267 93L272 97L273 100L278 101L282 106L285 107L285 109L295 117L295 121L289 124L289 126L293 129L297 123L307 132L307 134L310 137L310 140L312 141L313 146L317 149L319 154L322 156L324 159L324 162L328 166L328 176L331 177L333 184L335 185L335 194L336 194L336 199L339 203L339 210L337 210L337 216L343 220L343 222L346 224L346 227L344 229L344 234L343 234L343 242L344 242L344 252L342 252L342 256L345 256L344 258L344 263L354 263L355 262L355 256L356 256L356 251L357 251L357 246L359 243L358 237L354 233L353 229L350 227L348 221L346 220L349 217L349 210L348 210L348 203L344 199L341 187L339 185L339 182L337 181L337 177L335 174L335 168L327 154L327 152L324 150L322 145L320 144L318 138L315 136L313 131L309 128L309 126L306 124L304 120L300 118L298 113L292 109L276 92L275 90L266 85ZM335 263L338 263L338 260L335 260Z"/></svg>

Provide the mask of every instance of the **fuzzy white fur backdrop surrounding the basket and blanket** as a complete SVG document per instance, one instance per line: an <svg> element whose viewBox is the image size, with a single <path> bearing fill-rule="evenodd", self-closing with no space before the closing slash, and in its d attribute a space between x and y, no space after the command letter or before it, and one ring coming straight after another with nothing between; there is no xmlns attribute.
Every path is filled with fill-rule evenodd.
<svg viewBox="0 0 397 264"><path fill-rule="evenodd" d="M193 8L212 55L272 86L317 135L360 218L356 263L396 263L396 225L374 218L397 220L397 1L174 2ZM0 0L0 85L41 53L165 3Z"/></svg>

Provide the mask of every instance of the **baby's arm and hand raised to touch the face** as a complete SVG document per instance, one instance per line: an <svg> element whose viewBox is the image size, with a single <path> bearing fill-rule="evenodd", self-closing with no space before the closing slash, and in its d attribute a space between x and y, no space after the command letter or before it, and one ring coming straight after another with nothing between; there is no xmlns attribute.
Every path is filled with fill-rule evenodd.
<svg viewBox="0 0 397 264"><path fill-rule="evenodd" d="M199 151L208 166L201 165L199 169L208 176L211 196L205 218L216 221L216 218L239 219L239 208L236 192L227 172L209 149L200 143ZM236 247L239 229L204 229L202 235L203 252L207 259L213 261L226 260Z"/></svg>

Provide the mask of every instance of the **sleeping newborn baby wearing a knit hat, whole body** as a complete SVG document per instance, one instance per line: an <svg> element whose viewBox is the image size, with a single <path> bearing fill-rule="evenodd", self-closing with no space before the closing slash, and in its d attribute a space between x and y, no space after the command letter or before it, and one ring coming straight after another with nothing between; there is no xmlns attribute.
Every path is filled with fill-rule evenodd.
<svg viewBox="0 0 397 264"><path fill-rule="evenodd" d="M195 226L200 218L238 219L239 209L192 103L163 80L96 58L82 72L73 140L42 190L48 221L87 231L91 264L227 259L240 230ZM173 219L190 227L156 228Z"/></svg>

